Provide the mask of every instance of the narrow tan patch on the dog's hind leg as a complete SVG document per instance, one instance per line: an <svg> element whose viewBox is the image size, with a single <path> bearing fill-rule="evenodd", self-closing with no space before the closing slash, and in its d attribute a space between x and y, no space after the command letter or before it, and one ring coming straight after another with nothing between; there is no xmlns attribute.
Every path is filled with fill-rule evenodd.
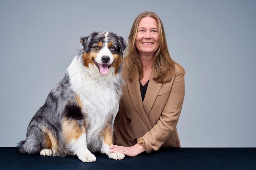
<svg viewBox="0 0 256 170"><path fill-rule="evenodd" d="M55 138L55 136L52 134L52 131L50 131L48 128L43 128L42 131L45 133L45 144L46 146L50 146L47 149L52 149L53 151L53 155L56 155L57 151L58 151L58 142ZM46 137L48 136L48 137Z"/></svg>

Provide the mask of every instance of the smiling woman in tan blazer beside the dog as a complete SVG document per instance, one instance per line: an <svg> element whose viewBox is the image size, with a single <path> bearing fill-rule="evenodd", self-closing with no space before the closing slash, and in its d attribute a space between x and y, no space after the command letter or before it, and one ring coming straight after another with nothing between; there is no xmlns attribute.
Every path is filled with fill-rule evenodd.
<svg viewBox="0 0 256 170"><path fill-rule="evenodd" d="M143 12L135 19L126 53L125 84L110 153L132 157L160 147L180 147L176 125L185 71L171 59L164 27L155 13Z"/></svg>

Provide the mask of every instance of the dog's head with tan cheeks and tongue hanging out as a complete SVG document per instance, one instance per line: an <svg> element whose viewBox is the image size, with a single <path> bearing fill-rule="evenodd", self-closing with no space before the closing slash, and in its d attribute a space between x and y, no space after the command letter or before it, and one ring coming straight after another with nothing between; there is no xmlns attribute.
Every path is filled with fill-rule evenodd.
<svg viewBox="0 0 256 170"><path fill-rule="evenodd" d="M115 74L120 71L127 45L121 36L112 32L94 32L81 37L80 42L84 47L84 66L89 68L89 64L92 64L101 74L107 74L110 67L114 67Z"/></svg>

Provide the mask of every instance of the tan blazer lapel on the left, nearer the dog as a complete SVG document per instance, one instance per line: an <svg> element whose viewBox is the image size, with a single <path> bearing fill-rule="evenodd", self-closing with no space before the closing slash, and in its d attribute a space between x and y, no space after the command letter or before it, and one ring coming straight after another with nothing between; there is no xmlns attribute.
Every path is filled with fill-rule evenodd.
<svg viewBox="0 0 256 170"><path fill-rule="evenodd" d="M148 119L148 116L146 115L146 112L144 111L142 97L141 97L141 93L140 93L139 73L137 72L135 74L132 82L130 82L128 77L126 76L126 82L127 82L127 86L128 86L128 90L129 90L129 94L130 94L130 98L132 100L133 106L134 106L135 110L137 111L139 117L142 119L144 124L150 130L152 127L151 127L150 121Z"/></svg>

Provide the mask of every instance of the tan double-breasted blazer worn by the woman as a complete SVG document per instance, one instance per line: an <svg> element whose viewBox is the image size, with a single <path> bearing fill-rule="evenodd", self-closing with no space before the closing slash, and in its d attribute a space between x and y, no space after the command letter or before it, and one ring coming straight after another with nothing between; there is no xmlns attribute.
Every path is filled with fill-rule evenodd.
<svg viewBox="0 0 256 170"><path fill-rule="evenodd" d="M146 152L162 147L180 147L176 125L185 95L184 75L175 65L175 77L169 83L156 83L152 70L144 101L140 94L139 74L132 82L122 76L125 84L119 111L114 120L114 145L142 145Z"/></svg>

